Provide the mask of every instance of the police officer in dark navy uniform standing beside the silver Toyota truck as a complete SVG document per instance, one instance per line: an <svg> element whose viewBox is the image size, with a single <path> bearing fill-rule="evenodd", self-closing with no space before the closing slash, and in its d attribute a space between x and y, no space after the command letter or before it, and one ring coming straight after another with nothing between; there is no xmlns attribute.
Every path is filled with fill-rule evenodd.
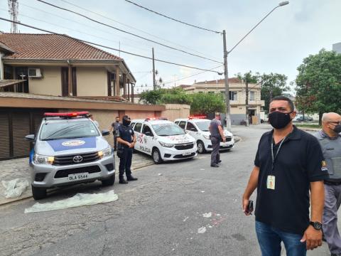
<svg viewBox="0 0 341 256"><path fill-rule="evenodd" d="M128 181L137 181L137 178L131 176L131 159L133 157L133 149L136 143L136 135L129 126L130 117L125 115L122 124L117 130L118 151L120 151L119 159L119 183L126 184ZM124 170L126 171L126 180L124 180Z"/></svg>

